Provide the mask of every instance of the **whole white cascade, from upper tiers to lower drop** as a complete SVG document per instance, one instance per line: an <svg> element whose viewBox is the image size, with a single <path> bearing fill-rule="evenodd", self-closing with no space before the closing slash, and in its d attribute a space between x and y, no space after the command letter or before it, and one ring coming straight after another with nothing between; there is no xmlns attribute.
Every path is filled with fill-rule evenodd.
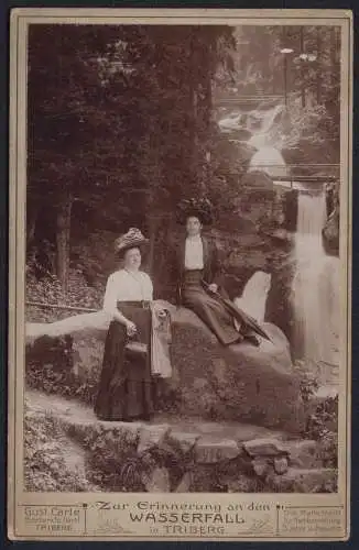
<svg viewBox="0 0 359 550"><path fill-rule="evenodd" d="M265 172L274 185L276 177L289 177L289 168L282 156L283 122L285 108L278 105L269 109L258 108L237 112L219 121L224 133L239 132L238 143L246 143L257 148L252 155L248 172ZM249 138L243 139L243 134ZM290 182L287 182L290 185ZM287 185L287 186L289 186ZM294 261L296 265L292 286L292 306L294 312L294 333L292 346L297 359L306 359L317 364L338 364L339 334L339 260L325 253L322 230L326 220L325 194L305 193L305 186L292 182L298 193L298 218L295 234ZM304 191L304 193L302 193ZM253 299L238 298L238 304L253 309ZM244 304L246 301L246 304ZM242 304L243 302L243 304ZM257 314L255 306L255 314ZM254 314L254 311L252 312ZM259 315L259 314L257 314ZM336 380L322 371L322 382L331 385ZM330 380L329 380L330 378Z"/></svg>

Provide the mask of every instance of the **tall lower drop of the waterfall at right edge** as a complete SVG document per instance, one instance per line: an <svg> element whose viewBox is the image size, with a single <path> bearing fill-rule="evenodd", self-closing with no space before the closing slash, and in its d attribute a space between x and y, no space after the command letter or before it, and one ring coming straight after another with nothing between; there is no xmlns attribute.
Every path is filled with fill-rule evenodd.
<svg viewBox="0 0 359 550"><path fill-rule="evenodd" d="M325 253L325 194L300 193L292 287L294 345L303 359L333 364L339 328L339 260Z"/></svg>

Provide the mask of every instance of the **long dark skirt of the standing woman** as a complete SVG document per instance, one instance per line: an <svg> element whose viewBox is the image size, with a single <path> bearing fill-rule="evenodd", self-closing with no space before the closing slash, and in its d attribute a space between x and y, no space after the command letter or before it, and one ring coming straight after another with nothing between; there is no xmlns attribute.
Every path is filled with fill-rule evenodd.
<svg viewBox="0 0 359 550"><path fill-rule="evenodd" d="M137 341L148 345L146 355L128 356L126 327L110 323L95 403L95 413L102 420L148 419L153 413L151 384L151 310L122 305L120 311L135 323Z"/></svg>

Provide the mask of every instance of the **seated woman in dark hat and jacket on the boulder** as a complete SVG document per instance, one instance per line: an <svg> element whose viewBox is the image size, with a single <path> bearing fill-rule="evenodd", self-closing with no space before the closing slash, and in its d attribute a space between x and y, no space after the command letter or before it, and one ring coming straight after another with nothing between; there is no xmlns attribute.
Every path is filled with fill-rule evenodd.
<svg viewBox="0 0 359 550"><path fill-rule="evenodd" d="M222 345L246 339L258 346L260 342L254 331L261 333L261 329L230 302L220 287L216 245L202 235L203 224L211 221L209 201L183 201L178 212L186 226L186 237L176 251L177 302L192 309Z"/></svg>

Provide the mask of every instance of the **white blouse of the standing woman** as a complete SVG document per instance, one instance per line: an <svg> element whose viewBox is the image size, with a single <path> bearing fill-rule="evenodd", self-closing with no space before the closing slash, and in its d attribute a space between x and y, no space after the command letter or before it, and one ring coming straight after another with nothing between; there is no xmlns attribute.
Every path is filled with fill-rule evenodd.
<svg viewBox="0 0 359 550"><path fill-rule="evenodd" d="M120 270L109 276L104 298L105 311L115 314L118 301L142 300L153 300L153 285L146 273Z"/></svg>

